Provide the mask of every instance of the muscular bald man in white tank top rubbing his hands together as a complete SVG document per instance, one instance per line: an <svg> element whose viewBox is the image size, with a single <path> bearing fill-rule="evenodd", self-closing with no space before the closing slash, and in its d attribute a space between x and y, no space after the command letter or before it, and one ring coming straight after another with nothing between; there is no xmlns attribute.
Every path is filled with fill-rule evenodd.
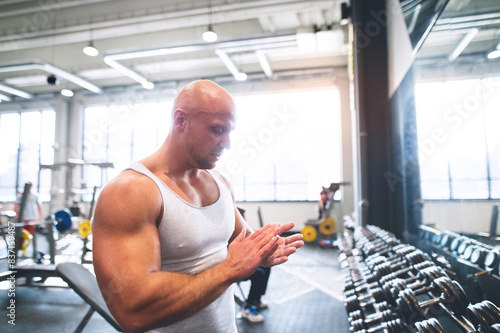
<svg viewBox="0 0 500 333"><path fill-rule="evenodd" d="M229 182L212 170L235 125L214 82L176 97L162 146L102 190L93 219L96 277L126 332L236 332L232 284L288 260L293 222L250 229ZM154 120L152 120L154 121Z"/></svg>

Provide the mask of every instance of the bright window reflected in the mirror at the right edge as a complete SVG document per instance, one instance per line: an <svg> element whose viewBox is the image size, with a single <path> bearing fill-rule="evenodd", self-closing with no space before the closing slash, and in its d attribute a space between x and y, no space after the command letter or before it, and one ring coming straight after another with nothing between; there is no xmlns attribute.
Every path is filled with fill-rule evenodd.
<svg viewBox="0 0 500 333"><path fill-rule="evenodd" d="M500 198L500 78L417 84L424 199Z"/></svg>

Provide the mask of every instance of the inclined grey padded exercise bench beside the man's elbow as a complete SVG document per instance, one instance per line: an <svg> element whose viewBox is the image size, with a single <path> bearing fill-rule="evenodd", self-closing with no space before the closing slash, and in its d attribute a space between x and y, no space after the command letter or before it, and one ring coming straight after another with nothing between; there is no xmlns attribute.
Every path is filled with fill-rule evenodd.
<svg viewBox="0 0 500 333"><path fill-rule="evenodd" d="M85 302L90 305L90 309L75 330L80 333L92 314L97 311L108 323L117 331L122 332L120 324L109 312L104 298L102 297L95 276L89 272L83 265L75 262L65 262L56 266L57 275L68 284Z"/></svg>

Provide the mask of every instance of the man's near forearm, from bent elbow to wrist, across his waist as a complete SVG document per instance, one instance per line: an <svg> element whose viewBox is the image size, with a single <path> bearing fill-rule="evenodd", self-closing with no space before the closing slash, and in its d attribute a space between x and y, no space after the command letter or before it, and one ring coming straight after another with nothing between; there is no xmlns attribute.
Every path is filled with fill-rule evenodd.
<svg viewBox="0 0 500 333"><path fill-rule="evenodd" d="M220 297L234 277L221 263L196 275L160 271L141 280L115 290L117 297L110 303L125 331L144 331L186 319Z"/></svg>

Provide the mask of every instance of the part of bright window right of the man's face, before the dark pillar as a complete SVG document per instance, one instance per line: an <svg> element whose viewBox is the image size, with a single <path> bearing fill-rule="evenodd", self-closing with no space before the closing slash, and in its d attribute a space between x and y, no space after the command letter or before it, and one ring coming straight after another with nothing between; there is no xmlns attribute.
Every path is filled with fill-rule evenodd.
<svg viewBox="0 0 500 333"><path fill-rule="evenodd" d="M338 90L235 97L231 149L217 166L239 201L317 200L341 180Z"/></svg>

